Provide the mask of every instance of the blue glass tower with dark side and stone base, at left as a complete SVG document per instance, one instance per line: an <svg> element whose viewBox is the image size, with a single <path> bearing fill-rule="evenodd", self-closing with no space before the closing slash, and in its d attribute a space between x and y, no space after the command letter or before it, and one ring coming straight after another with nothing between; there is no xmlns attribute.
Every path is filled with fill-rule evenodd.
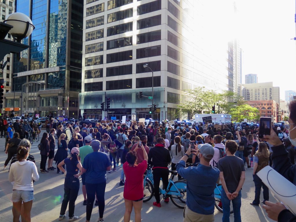
<svg viewBox="0 0 296 222"><path fill-rule="evenodd" d="M69 113L77 117L83 2L19 0L15 6L36 28L22 40L30 47L21 52L20 60L13 59L12 91L4 95L5 109L16 115L46 116L52 112L54 116Z"/></svg>

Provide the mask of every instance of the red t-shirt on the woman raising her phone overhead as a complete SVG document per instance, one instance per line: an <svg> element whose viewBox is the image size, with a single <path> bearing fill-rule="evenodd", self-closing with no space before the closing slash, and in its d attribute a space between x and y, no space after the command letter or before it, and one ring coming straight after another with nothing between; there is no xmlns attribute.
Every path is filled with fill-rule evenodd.
<svg viewBox="0 0 296 222"><path fill-rule="evenodd" d="M144 196L143 174L147 169L147 161L143 160L136 166L130 167L128 162L123 164L126 182L124 184L123 198L127 200L140 200Z"/></svg>

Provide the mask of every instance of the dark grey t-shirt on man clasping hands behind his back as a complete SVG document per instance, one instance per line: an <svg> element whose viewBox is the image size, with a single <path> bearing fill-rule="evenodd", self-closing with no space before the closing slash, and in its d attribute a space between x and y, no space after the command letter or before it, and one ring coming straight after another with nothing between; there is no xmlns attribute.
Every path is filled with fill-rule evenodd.
<svg viewBox="0 0 296 222"><path fill-rule="evenodd" d="M218 161L218 168L223 172L229 192L234 192L239 185L242 171L245 171L244 161L237 156L225 156Z"/></svg>

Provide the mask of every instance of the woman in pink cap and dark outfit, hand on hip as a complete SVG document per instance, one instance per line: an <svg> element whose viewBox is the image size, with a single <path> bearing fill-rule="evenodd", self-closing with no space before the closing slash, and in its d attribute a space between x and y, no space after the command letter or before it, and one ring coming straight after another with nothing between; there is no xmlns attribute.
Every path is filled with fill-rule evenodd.
<svg viewBox="0 0 296 222"><path fill-rule="evenodd" d="M62 136L62 135L61 135ZM64 183L64 199L62 201L61 211L59 215L59 221L66 217L65 212L69 202L69 221L75 221L78 219L78 216L74 215L75 201L78 196L79 191L79 176L83 174L81 172L82 165L78 160L79 148L73 147L71 149L71 157L66 158L60 162L57 167L65 174L65 183ZM66 164L67 171L62 167ZM80 170L80 174L78 174Z"/></svg>

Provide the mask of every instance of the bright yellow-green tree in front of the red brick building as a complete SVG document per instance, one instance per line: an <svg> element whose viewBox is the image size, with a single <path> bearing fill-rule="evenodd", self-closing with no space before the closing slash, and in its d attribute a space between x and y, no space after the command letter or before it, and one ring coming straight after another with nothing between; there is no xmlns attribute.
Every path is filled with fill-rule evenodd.
<svg viewBox="0 0 296 222"><path fill-rule="evenodd" d="M258 120L260 118L259 110L251 107L249 104L241 104L232 108L229 112L234 120L242 121L242 119Z"/></svg>

